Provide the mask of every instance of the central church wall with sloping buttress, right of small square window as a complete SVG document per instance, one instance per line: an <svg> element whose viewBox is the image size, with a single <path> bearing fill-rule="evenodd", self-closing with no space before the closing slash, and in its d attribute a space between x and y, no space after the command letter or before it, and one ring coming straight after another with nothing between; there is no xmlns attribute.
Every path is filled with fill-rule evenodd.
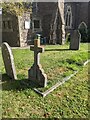
<svg viewBox="0 0 90 120"><path fill-rule="evenodd" d="M36 8L35 8L35 4L37 4ZM63 2L34 3L32 16L34 16L34 18L41 19L41 33L43 37L47 38L46 41L47 43L52 43L52 44L64 43L65 22L64 22Z"/></svg>

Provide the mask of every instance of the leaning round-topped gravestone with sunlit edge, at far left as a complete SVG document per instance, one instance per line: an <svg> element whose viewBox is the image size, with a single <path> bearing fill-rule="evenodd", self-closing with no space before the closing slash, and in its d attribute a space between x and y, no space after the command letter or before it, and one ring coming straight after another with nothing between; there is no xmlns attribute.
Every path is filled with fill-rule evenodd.
<svg viewBox="0 0 90 120"><path fill-rule="evenodd" d="M6 74L10 78L16 80L17 75L16 75L16 69L14 65L13 54L10 46L6 42L2 43L2 58L3 58Z"/></svg>

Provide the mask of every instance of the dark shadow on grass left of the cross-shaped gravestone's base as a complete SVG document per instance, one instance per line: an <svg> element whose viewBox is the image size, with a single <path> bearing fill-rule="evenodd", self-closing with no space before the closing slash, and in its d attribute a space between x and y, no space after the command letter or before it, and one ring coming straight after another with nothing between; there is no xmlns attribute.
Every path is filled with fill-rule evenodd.
<svg viewBox="0 0 90 120"><path fill-rule="evenodd" d="M37 86L28 79L12 80L6 74L2 74L2 90L20 91L28 88L30 89L40 88L40 86Z"/></svg>

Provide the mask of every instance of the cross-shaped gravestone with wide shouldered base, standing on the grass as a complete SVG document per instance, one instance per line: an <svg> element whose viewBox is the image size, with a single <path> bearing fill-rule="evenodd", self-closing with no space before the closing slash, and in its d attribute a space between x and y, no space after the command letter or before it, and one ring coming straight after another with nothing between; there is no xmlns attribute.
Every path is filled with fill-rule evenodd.
<svg viewBox="0 0 90 120"><path fill-rule="evenodd" d="M40 46L40 39L34 40L34 45L30 46L30 50L34 51L34 64L28 71L28 77L37 85L46 87L47 75L40 64L40 53L44 52L44 47Z"/></svg>

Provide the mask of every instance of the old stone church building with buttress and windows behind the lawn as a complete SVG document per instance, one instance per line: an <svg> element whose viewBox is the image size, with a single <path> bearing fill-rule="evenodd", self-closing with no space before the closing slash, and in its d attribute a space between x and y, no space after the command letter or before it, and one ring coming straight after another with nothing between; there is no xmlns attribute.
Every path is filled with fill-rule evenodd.
<svg viewBox="0 0 90 120"><path fill-rule="evenodd" d="M23 47L33 44L34 36L40 34L47 44L62 45L73 30L90 31L89 11L90 2L34 2L32 14L2 14L2 42Z"/></svg>

